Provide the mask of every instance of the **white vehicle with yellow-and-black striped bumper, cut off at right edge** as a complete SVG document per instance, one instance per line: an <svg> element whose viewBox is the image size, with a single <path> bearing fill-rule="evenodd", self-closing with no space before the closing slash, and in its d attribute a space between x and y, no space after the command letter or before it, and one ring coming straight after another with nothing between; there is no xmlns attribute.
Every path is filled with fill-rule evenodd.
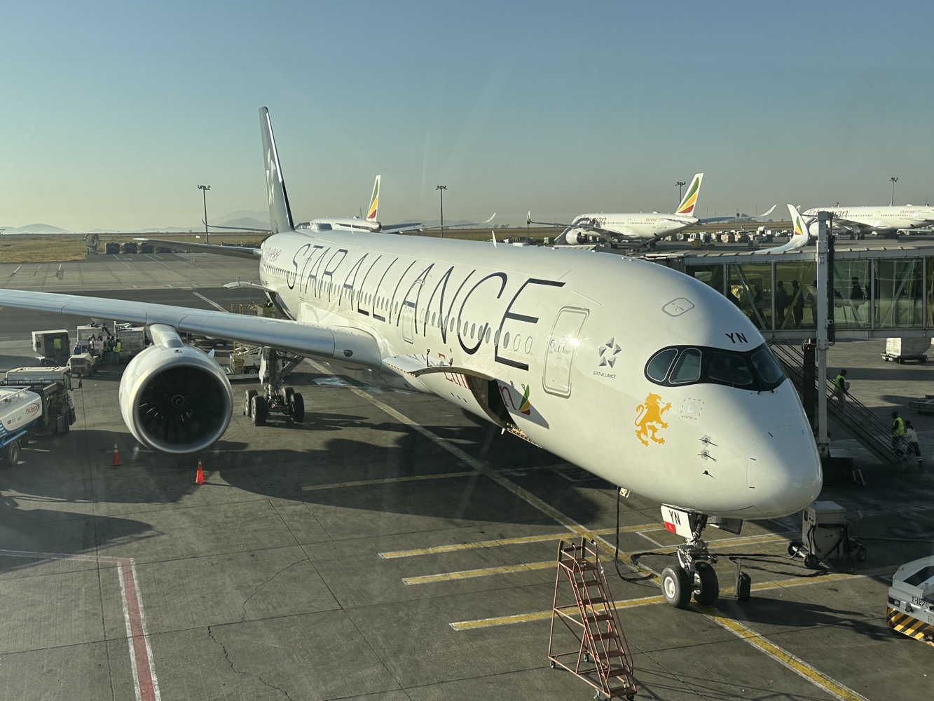
<svg viewBox="0 0 934 701"><path fill-rule="evenodd" d="M934 555L901 565L888 588L888 627L934 646Z"/></svg>

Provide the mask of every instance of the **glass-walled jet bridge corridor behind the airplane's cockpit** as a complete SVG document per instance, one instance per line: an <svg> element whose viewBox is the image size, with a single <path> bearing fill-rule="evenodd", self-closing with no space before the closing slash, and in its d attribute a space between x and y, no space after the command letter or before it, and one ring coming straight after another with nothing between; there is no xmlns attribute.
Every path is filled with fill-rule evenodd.
<svg viewBox="0 0 934 701"><path fill-rule="evenodd" d="M677 252L646 259L724 294L770 341L803 341L817 328L814 250ZM831 250L828 333L850 338L934 336L934 248Z"/></svg>

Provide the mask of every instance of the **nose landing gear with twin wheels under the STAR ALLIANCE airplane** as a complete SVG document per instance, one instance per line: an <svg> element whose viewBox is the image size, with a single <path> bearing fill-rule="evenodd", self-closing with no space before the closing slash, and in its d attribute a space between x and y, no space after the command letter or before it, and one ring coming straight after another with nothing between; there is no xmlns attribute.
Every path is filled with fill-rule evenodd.
<svg viewBox="0 0 934 701"><path fill-rule="evenodd" d="M714 563L716 555L707 550L701 539L707 516L679 508L662 507L665 528L685 538L676 551L678 564L661 572L661 593L673 607L686 608L691 594L699 604L713 604L720 595Z"/></svg>

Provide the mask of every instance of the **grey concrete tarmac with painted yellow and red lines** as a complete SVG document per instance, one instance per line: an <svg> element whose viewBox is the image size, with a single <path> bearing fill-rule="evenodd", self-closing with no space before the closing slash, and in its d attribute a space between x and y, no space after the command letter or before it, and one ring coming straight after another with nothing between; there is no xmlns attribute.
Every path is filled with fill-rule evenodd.
<svg viewBox="0 0 934 701"><path fill-rule="evenodd" d="M0 285L192 307L251 301L222 288L255 264L210 254L0 265ZM84 318L0 309L0 369L33 363L29 332ZM914 699L934 648L892 633L895 569L934 553L934 417L908 402L931 365L884 363L884 341L829 351L851 392L918 429L927 472L872 463L826 487L865 562L816 570L788 554L800 515L708 528L721 597L663 603L653 573L679 539L658 504L463 413L305 362L303 424L241 413L198 456L142 450L120 419L119 366L73 392L67 436L35 436L0 471L0 699L589 699L548 665L559 543L600 546L638 698ZM120 465L115 465L116 445ZM194 483L198 460L205 484ZM620 556L614 563L617 521ZM736 561L752 596L732 591ZM618 574L617 574L618 572ZM556 638L556 651L567 646Z"/></svg>

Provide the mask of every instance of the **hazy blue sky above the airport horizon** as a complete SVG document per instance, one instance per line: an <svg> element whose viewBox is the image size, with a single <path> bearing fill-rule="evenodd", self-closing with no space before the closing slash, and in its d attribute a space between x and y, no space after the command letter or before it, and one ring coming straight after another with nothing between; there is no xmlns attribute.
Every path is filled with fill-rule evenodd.
<svg viewBox="0 0 934 701"><path fill-rule="evenodd" d="M0 23L0 226L265 211L518 224L934 202L934 10L881 2L44 2ZM776 210L777 211L777 210Z"/></svg>

